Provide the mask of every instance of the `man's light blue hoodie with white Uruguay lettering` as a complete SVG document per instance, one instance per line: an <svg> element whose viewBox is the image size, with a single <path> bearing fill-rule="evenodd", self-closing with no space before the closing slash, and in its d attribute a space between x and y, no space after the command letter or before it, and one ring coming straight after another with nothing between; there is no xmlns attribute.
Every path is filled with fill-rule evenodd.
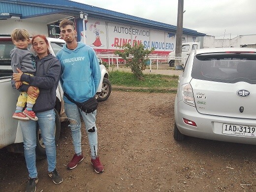
<svg viewBox="0 0 256 192"><path fill-rule="evenodd" d="M74 50L63 46L56 54L62 64L61 85L63 91L77 102L95 96L101 74L95 51L82 42ZM74 104L64 96L64 102Z"/></svg>

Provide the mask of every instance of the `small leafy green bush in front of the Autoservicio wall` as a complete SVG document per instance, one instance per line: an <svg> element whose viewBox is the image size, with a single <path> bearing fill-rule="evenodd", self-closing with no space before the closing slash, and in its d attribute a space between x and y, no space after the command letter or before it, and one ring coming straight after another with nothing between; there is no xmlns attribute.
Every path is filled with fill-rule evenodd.
<svg viewBox="0 0 256 192"><path fill-rule="evenodd" d="M143 79L142 71L146 69L148 55L155 49L144 49L144 45L138 44L137 41L134 41L133 46L128 43L120 48L123 50L115 51L115 54L126 61L126 66L130 67L131 72L133 72L137 79Z"/></svg>

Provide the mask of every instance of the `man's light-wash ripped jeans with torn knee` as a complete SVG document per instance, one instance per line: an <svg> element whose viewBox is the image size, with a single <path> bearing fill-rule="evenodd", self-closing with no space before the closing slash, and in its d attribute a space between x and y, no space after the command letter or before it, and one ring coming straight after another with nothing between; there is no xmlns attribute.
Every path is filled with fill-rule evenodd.
<svg viewBox="0 0 256 192"><path fill-rule="evenodd" d="M65 114L69 119L72 140L74 145L74 150L76 154L82 152L81 149L81 119L80 114L85 122L85 128L88 135L88 140L91 148L91 157L97 156L97 128L96 128L96 110L93 113L85 113L75 104L65 103Z"/></svg>

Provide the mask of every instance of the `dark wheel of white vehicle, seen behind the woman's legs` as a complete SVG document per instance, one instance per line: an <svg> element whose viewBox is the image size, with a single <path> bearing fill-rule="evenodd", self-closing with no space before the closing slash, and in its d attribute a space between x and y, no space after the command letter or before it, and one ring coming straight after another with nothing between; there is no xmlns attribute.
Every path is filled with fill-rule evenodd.
<svg viewBox="0 0 256 192"><path fill-rule="evenodd" d="M59 114L56 109L54 109L55 112L55 129L54 129L54 135L55 135L55 144L59 140L60 133L61 133L61 121ZM42 135L41 135L41 130L39 128L38 123L36 124L36 148L35 148L35 153L36 153L36 160L43 160L46 158L46 151L45 151L45 146L43 143Z"/></svg>

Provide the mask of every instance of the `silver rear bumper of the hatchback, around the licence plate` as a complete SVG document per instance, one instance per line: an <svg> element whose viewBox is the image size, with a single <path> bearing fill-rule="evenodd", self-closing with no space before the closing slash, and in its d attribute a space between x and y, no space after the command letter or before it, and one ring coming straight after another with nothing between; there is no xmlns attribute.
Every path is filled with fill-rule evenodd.
<svg viewBox="0 0 256 192"><path fill-rule="evenodd" d="M177 128L184 135L218 141L256 145L256 137L223 133L223 124L248 125L256 127L256 121L253 119L200 114L195 107L192 107L183 101L177 102L177 99L175 99L174 115ZM195 122L197 127L185 124L183 118Z"/></svg>

